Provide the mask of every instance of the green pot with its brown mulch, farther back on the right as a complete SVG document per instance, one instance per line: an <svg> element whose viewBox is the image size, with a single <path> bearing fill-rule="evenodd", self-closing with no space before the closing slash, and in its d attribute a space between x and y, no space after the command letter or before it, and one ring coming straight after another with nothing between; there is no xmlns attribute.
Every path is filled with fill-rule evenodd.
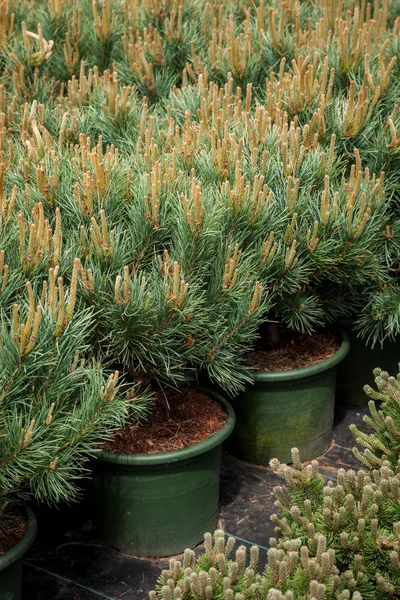
<svg viewBox="0 0 400 600"><path fill-rule="evenodd" d="M236 426L228 450L257 465L307 461L331 444L337 365L349 351L345 332L313 335L282 330L279 340L246 356L253 384L232 405Z"/></svg>

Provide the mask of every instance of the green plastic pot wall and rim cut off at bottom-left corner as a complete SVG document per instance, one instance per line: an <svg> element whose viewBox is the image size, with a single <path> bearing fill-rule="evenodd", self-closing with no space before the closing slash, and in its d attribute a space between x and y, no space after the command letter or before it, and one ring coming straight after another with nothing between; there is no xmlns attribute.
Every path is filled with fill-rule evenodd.
<svg viewBox="0 0 400 600"><path fill-rule="evenodd" d="M21 600L22 559L36 536L36 519L25 507L28 527L24 536L11 550L0 556L0 600Z"/></svg>

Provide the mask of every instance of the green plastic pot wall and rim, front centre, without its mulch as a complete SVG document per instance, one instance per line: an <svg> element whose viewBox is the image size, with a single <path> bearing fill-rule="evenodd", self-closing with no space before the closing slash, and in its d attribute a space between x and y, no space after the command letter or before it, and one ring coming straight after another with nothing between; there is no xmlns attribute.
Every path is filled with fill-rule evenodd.
<svg viewBox="0 0 400 600"><path fill-rule="evenodd" d="M193 548L217 524L221 445L235 415L215 392L228 418L213 436L159 454L101 451L94 474L97 523L106 544L134 556L171 556Z"/></svg>

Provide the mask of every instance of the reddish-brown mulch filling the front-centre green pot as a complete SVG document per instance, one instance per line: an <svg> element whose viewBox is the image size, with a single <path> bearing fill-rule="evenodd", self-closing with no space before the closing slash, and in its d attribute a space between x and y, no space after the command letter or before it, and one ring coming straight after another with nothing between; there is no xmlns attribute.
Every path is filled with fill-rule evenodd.
<svg viewBox="0 0 400 600"><path fill-rule="evenodd" d="M222 406L190 388L158 392L148 425L131 425L117 431L105 449L121 454L155 454L193 446L222 429Z"/></svg>

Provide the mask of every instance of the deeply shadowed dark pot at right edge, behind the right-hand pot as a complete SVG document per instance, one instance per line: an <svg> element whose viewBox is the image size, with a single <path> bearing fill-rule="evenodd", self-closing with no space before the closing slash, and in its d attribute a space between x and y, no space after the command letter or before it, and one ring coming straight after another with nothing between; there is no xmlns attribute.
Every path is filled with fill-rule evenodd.
<svg viewBox="0 0 400 600"><path fill-rule="evenodd" d="M358 406L370 400L364 393L364 385L374 386L372 371L379 367L390 375L397 375L400 362L400 339L386 341L383 346L368 348L364 340L357 337L352 329L352 321L341 321L351 343L351 350L339 365L336 401L338 404Z"/></svg>

